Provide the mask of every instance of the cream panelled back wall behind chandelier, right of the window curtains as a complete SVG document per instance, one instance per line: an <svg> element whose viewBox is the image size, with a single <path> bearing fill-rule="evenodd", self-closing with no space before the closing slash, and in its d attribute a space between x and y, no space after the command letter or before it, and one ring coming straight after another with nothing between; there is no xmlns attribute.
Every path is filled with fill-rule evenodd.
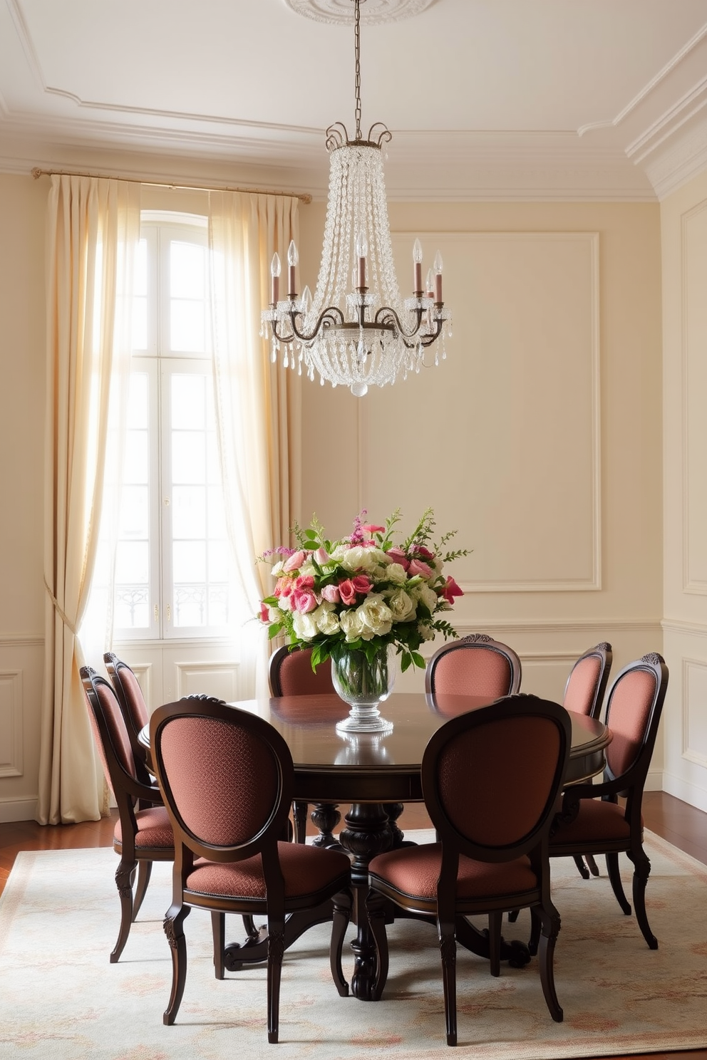
<svg viewBox="0 0 707 1060"><path fill-rule="evenodd" d="M302 285L323 217L302 210ZM359 508L378 520L400 506L409 528L431 504L474 549L454 570L469 586L459 632L513 644L526 691L561 696L598 640L613 643L615 673L661 651L657 205L392 204L390 217L403 284L416 235L423 271L443 245L447 360L364 399L304 386L302 519L314 511L338 536Z"/></svg>

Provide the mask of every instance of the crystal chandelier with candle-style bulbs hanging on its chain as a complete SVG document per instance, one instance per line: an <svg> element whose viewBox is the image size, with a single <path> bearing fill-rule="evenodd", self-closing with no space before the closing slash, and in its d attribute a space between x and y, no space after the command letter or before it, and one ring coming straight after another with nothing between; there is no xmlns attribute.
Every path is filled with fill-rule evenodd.
<svg viewBox="0 0 707 1060"><path fill-rule="evenodd" d="M297 294L298 253L287 251L287 297L280 299L280 258L270 266L271 297L262 313L261 335L270 338L275 363L283 349L283 366L321 385L347 386L361 398L369 385L385 386L408 372L419 372L425 350L436 346L435 364L445 358L445 333L452 315L442 300L439 251L422 284L422 246L412 248L412 297L401 299L390 241L383 178L383 144L391 134L376 122L364 140L360 130L360 0L353 0L356 58L356 135L341 122L326 129L330 152L329 200L319 279L314 296Z"/></svg>

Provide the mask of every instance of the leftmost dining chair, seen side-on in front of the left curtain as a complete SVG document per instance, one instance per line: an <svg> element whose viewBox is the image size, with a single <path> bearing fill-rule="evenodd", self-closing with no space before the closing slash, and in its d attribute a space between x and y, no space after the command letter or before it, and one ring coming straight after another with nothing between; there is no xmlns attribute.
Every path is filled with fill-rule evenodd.
<svg viewBox="0 0 707 1060"><path fill-rule="evenodd" d="M116 691L91 667L81 668L88 713L103 768L118 805L113 850L120 855L116 885L121 903L118 941L110 961L119 960L147 890L153 862L174 860L172 825L158 788L138 777L127 727ZM138 882L132 894L136 868Z"/></svg>

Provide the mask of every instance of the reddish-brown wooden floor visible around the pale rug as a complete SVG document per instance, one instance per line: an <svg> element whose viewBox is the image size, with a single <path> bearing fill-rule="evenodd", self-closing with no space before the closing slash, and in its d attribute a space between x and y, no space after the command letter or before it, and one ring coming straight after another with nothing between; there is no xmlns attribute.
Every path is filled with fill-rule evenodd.
<svg viewBox="0 0 707 1060"><path fill-rule="evenodd" d="M707 814L662 792L647 792L643 798L646 827L673 846L707 865ZM429 828L424 807L408 805L399 824L405 829ZM0 824L0 891L19 850L64 850L111 845L114 820L110 817L83 825L42 827L33 820ZM688 1053L635 1055L635 1060L707 1060L707 1048ZM605 1060L618 1060L606 1057Z"/></svg>

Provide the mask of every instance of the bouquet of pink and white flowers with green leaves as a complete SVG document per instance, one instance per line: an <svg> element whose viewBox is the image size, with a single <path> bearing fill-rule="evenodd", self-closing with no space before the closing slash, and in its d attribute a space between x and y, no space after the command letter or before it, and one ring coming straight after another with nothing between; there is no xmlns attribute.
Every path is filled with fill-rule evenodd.
<svg viewBox="0 0 707 1060"><path fill-rule="evenodd" d="M369 661L384 644L394 644L401 670L411 665L424 668L418 649L441 633L456 637L441 612L449 611L462 590L442 570L446 563L467 549L449 550L456 530L432 543L435 517L431 508L422 515L412 533L393 543L400 509L385 526L363 523L361 512L353 533L328 541L316 516L308 529L293 528L297 548L275 548L262 560L277 556L272 596L261 603L261 620L269 636L284 633L290 644L311 647L312 667L330 656L363 651Z"/></svg>

